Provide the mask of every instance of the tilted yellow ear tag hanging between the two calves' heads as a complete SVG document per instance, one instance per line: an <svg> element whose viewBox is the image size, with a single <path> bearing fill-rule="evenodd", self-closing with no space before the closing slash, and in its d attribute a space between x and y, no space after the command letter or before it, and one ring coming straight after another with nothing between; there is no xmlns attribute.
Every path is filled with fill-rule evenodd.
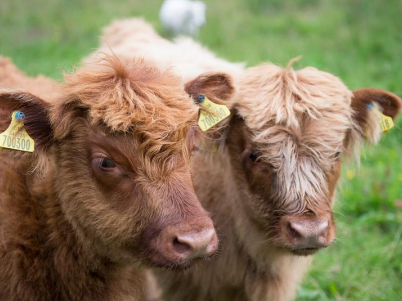
<svg viewBox="0 0 402 301"><path fill-rule="evenodd" d="M210 112L201 110L199 113L198 125L203 131L209 130L211 127L230 115L230 110L226 105L212 102L204 95L198 96L198 102L200 106L213 112L213 114L211 114Z"/></svg>

